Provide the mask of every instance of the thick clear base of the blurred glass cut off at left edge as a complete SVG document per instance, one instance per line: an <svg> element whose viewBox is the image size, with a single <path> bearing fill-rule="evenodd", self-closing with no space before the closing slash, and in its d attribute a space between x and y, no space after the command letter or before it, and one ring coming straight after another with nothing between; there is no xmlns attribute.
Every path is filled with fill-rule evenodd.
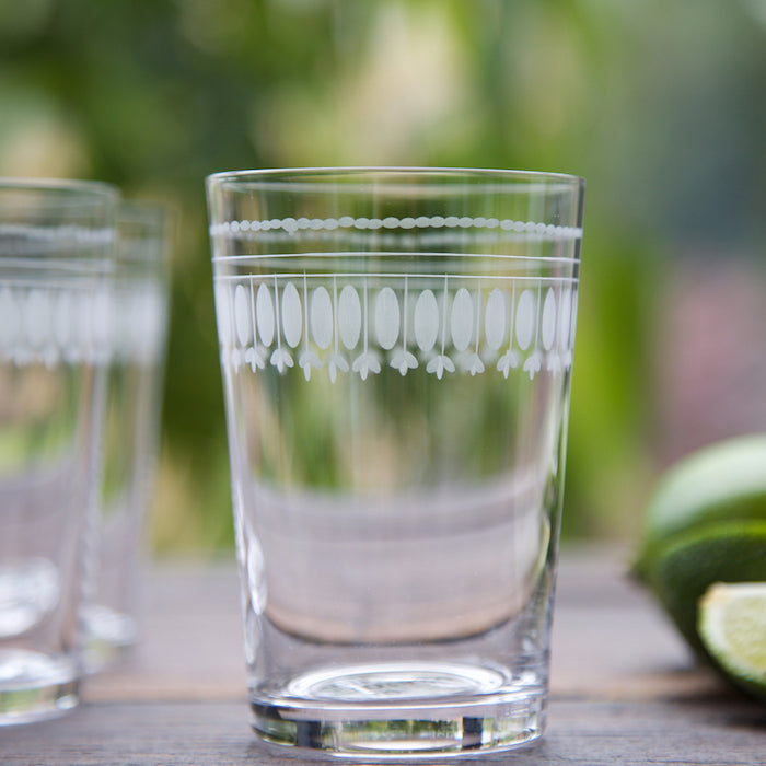
<svg viewBox="0 0 766 766"><path fill-rule="evenodd" d="M0 727L56 718L80 700L77 664L21 649L0 650Z"/></svg>

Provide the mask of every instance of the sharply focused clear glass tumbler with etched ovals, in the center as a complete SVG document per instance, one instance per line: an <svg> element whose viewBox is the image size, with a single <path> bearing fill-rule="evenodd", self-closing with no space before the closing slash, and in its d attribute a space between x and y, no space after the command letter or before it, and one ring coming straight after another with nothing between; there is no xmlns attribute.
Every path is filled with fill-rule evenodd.
<svg viewBox="0 0 766 766"><path fill-rule="evenodd" d="M368 759L534 740L583 182L207 184L255 731Z"/></svg>

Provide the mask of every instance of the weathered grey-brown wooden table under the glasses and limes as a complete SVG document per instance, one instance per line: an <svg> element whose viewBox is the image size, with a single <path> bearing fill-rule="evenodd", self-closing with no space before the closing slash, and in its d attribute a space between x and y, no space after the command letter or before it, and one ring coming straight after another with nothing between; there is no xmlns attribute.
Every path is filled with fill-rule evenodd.
<svg viewBox="0 0 766 766"><path fill-rule="evenodd" d="M558 583L545 736L467 763L766 764L766 706L693 666L624 556L565 550ZM90 678L72 713L0 730L0 764L301 763L249 731L233 565L154 565L143 591L131 662Z"/></svg>

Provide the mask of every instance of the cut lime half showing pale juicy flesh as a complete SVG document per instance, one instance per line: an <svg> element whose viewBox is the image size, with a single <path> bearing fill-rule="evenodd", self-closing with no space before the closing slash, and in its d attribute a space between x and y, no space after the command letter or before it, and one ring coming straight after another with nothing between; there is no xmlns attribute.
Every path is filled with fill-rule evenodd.
<svg viewBox="0 0 766 766"><path fill-rule="evenodd" d="M766 582L711 585L699 602L698 628L732 683L766 699Z"/></svg>

